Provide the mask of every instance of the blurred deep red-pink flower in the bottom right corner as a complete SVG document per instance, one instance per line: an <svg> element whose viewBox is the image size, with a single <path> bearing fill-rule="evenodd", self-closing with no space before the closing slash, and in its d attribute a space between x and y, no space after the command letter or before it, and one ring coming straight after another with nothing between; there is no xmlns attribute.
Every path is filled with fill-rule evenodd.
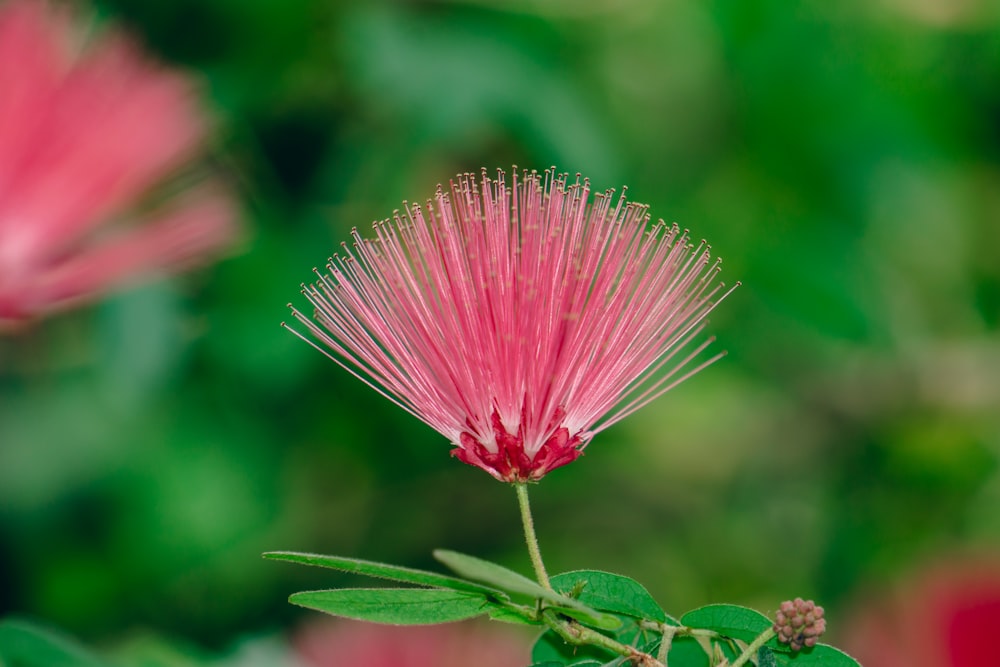
<svg viewBox="0 0 1000 667"><path fill-rule="evenodd" d="M843 648L865 667L1000 664L1000 555L943 561L844 614Z"/></svg>

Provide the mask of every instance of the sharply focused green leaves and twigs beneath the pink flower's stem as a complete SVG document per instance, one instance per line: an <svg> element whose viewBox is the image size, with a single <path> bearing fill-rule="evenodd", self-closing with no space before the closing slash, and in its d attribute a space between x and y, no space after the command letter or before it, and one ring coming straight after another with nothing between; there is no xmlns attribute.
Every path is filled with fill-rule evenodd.
<svg viewBox="0 0 1000 667"><path fill-rule="evenodd" d="M676 621L641 584L609 572L566 572L552 577L551 588L546 588L502 565L453 551L439 550L435 557L472 581L341 557L293 552L264 556L420 586L310 591L289 598L334 616L428 625L489 614L496 620L545 626L532 650L532 667L654 664L640 662L654 656L673 667L711 667L720 656L732 662L743 653L747 655L739 664L751 659L759 667L860 667L826 644L791 651L776 640L766 616L746 607L709 605ZM603 633L595 635L594 630Z"/></svg>

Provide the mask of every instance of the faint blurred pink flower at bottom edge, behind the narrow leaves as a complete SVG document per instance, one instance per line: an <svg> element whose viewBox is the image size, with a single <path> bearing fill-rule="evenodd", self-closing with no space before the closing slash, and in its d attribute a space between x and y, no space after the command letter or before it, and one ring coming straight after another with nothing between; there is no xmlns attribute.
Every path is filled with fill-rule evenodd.
<svg viewBox="0 0 1000 667"><path fill-rule="evenodd" d="M321 621L292 639L305 667L515 667L530 662L524 639L477 623L400 627Z"/></svg>

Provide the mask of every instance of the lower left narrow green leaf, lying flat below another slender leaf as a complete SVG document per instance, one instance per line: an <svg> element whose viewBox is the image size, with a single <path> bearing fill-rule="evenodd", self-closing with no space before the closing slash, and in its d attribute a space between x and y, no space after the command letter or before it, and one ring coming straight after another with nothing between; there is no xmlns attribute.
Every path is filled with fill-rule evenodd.
<svg viewBox="0 0 1000 667"><path fill-rule="evenodd" d="M438 588L339 588L295 593L288 601L334 616L391 625L433 625L485 614L477 593Z"/></svg>

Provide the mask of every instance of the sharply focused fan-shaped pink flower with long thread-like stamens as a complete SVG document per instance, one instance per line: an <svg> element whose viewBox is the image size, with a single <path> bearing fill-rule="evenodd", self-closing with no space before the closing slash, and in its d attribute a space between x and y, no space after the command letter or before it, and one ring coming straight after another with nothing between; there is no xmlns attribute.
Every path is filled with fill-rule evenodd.
<svg viewBox="0 0 1000 667"><path fill-rule="evenodd" d="M460 460L524 482L717 359L687 370L728 292L704 243L646 206L551 171L512 180L462 175L376 239L355 230L303 286L315 321L292 312Z"/></svg>

